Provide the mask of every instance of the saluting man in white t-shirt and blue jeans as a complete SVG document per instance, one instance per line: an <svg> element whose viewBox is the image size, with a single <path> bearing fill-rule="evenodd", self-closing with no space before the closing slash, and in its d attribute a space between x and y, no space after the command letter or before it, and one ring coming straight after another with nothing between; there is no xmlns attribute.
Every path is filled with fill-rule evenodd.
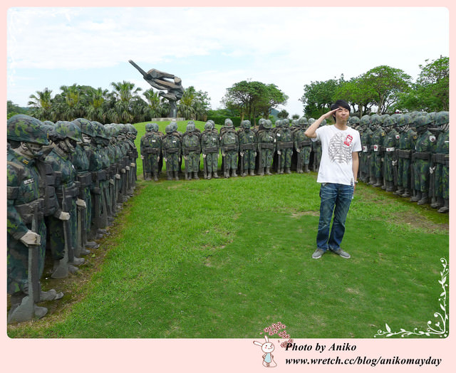
<svg viewBox="0 0 456 373"><path fill-rule="evenodd" d="M328 117L336 120L335 125L318 128ZM350 208L358 176L358 152L361 138L357 130L347 126L350 106L343 100L331 105L331 111L318 118L305 132L312 141L321 141L321 163L317 182L320 187L320 221L316 236L316 251L312 258L318 259L331 250L342 258L350 254L341 249L345 221ZM330 225L334 215L333 226Z"/></svg>

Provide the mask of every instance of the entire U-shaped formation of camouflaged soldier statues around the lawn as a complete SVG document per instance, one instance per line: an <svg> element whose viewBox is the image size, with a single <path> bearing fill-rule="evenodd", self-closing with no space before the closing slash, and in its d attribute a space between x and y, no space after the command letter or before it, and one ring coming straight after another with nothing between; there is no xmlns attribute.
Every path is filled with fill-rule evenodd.
<svg viewBox="0 0 456 373"><path fill-rule="evenodd" d="M168 179L178 179L182 160L185 178L197 179L202 154L204 177L218 178L222 154L224 177L316 171L318 142L305 135L314 119L244 120L235 130L231 120L217 131L208 121L200 132L193 122L185 133L171 122L165 134L146 125L140 151L145 179L157 180L166 162ZM326 122L323 122L325 125ZM449 113L412 112L351 117L361 132L359 179L449 211ZM135 189L133 125L90 122L41 122L28 115L8 120L7 244L9 322L42 317L37 303L63 296L41 290L45 259L53 262L51 278L78 270L114 216Z"/></svg>

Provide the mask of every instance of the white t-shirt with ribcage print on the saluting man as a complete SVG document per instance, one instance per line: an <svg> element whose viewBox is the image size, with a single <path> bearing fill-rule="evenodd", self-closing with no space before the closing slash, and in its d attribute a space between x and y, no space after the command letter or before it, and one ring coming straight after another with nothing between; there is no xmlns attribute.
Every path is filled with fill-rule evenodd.
<svg viewBox="0 0 456 373"><path fill-rule="evenodd" d="M347 127L338 130L335 125L318 127L316 138L321 141L321 161L318 183L353 185L352 152L361 152L361 138L357 130Z"/></svg>

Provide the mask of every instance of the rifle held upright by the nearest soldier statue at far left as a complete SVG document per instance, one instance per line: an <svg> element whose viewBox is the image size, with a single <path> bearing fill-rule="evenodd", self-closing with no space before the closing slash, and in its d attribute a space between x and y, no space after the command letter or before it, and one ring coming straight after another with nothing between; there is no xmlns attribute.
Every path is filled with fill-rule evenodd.
<svg viewBox="0 0 456 373"><path fill-rule="evenodd" d="M38 204L33 206L31 231L38 233ZM40 245L37 243L28 245L28 295L22 299L21 304L8 317L8 323L28 321L33 319L35 315L35 303L38 303L41 298L38 274L39 248Z"/></svg>

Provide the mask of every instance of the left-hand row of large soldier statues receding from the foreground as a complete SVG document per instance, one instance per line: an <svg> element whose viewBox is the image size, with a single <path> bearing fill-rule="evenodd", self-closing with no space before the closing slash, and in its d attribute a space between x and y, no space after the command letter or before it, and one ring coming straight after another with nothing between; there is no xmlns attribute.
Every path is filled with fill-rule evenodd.
<svg viewBox="0 0 456 373"><path fill-rule="evenodd" d="M39 303L63 293L41 289L45 262L51 278L78 270L133 195L138 152L133 125L8 120L8 322L43 317Z"/></svg>

